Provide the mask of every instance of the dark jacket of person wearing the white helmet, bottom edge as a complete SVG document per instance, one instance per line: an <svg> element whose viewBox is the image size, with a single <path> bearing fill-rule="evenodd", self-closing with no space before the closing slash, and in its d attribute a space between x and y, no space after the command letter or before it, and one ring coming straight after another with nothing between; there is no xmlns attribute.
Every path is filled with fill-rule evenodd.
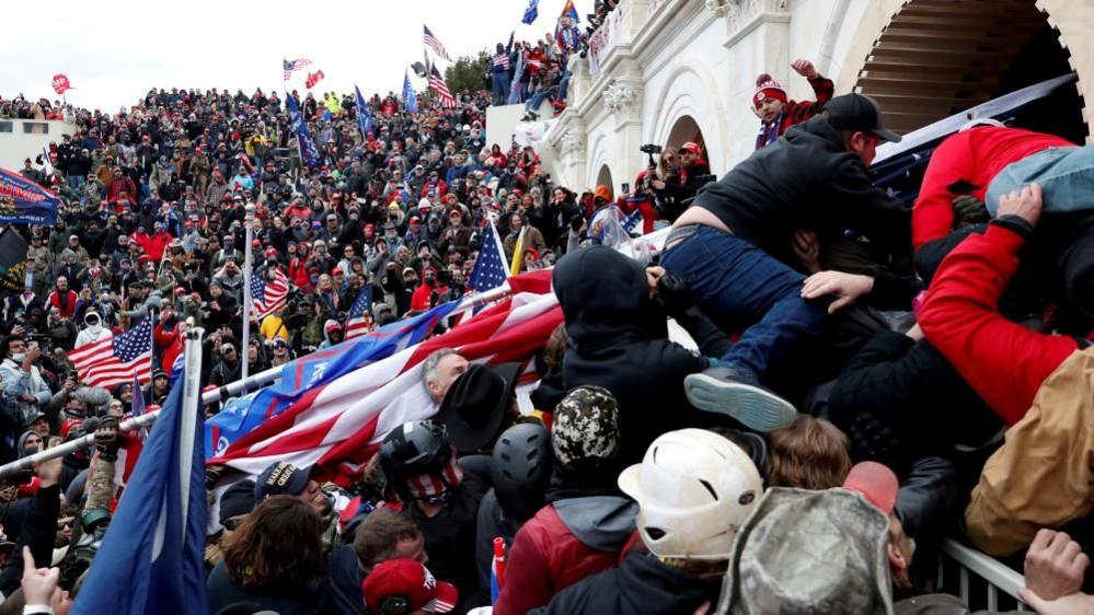
<svg viewBox="0 0 1094 615"><path fill-rule="evenodd" d="M722 577L701 579L631 552L619 568L575 583L530 615L678 615L718 603Z"/></svg>

